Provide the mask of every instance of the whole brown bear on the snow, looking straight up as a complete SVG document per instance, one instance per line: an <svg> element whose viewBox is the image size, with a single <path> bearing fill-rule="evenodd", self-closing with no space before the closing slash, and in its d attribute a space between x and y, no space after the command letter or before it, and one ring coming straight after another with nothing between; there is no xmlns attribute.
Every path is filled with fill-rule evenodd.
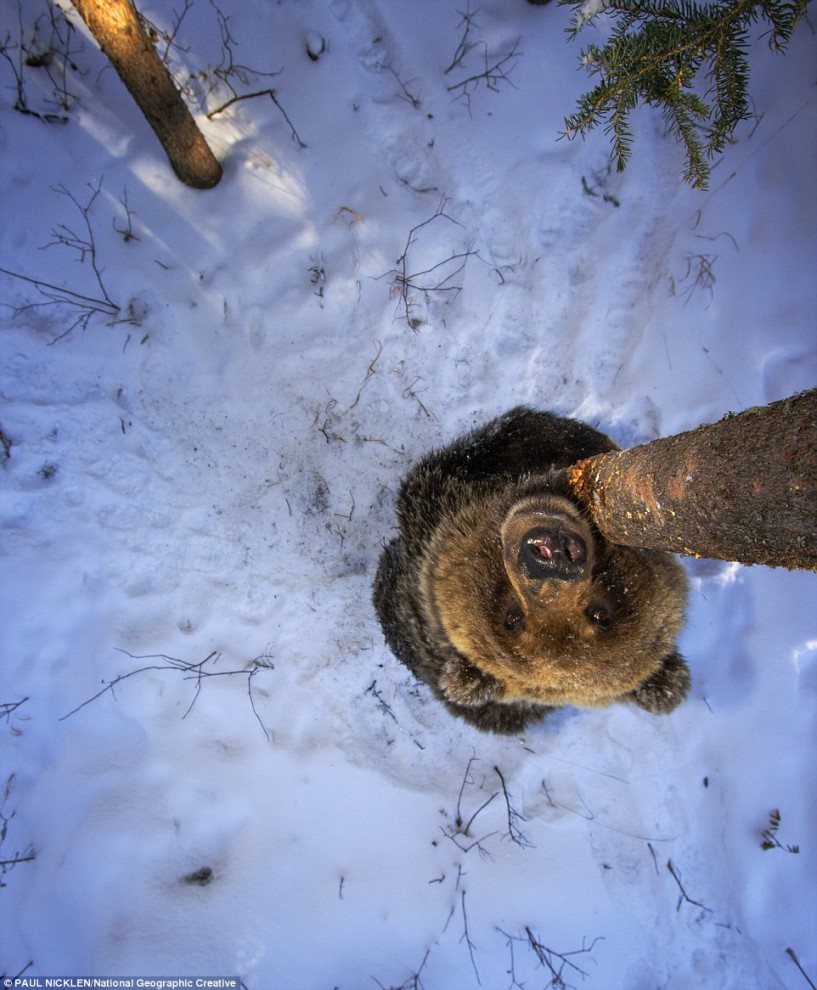
<svg viewBox="0 0 817 990"><path fill-rule="evenodd" d="M686 695L683 569L605 540L567 485L566 468L617 449L520 406L401 485L375 609L394 654L480 729L517 732L562 705L664 713Z"/></svg>

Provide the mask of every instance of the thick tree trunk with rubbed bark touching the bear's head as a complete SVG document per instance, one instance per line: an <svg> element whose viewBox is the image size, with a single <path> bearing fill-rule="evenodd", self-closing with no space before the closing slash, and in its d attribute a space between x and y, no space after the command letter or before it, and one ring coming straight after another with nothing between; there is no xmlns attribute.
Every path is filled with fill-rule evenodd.
<svg viewBox="0 0 817 990"><path fill-rule="evenodd" d="M817 570L817 389L570 469L613 543Z"/></svg>

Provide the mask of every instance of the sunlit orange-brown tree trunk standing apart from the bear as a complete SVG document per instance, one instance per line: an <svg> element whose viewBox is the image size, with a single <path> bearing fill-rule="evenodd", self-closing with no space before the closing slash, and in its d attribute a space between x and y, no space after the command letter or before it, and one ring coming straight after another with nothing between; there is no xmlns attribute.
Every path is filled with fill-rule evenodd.
<svg viewBox="0 0 817 990"><path fill-rule="evenodd" d="M221 178L221 165L150 43L131 0L72 2L156 132L176 175L195 189L214 186Z"/></svg>

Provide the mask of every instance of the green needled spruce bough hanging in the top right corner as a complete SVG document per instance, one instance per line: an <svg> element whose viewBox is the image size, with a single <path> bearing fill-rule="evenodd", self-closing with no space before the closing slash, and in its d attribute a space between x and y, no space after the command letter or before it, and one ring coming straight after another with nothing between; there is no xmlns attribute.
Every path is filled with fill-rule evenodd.
<svg viewBox="0 0 817 990"><path fill-rule="evenodd" d="M631 112L640 103L661 109L684 146L684 179L705 189L710 161L751 116L748 46L751 29L767 22L768 42L785 50L808 0L561 0L575 9L571 39L599 15L614 20L604 45L581 59L598 84L565 118L565 134L584 135L600 123L613 142L619 171L630 157Z"/></svg>

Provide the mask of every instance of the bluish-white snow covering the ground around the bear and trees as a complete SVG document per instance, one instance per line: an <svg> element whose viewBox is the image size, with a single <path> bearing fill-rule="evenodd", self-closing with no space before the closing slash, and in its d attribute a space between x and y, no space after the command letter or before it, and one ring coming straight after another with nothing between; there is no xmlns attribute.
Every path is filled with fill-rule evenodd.
<svg viewBox="0 0 817 990"><path fill-rule="evenodd" d="M224 163L208 192L84 32L67 123L14 112L0 67L0 264L98 297L65 244L98 188L131 318L71 329L0 283L9 976L817 980L813 574L687 562L689 700L510 739L449 717L370 605L409 463L514 404L632 445L815 385L814 32L756 45L756 119L701 193L648 110L621 174L603 133L559 139L588 86L568 10L485 0L445 74L461 9L225 5L235 63L278 73L233 81L279 105L208 120L222 35L194 4L173 65ZM507 79L449 90L517 41Z"/></svg>

